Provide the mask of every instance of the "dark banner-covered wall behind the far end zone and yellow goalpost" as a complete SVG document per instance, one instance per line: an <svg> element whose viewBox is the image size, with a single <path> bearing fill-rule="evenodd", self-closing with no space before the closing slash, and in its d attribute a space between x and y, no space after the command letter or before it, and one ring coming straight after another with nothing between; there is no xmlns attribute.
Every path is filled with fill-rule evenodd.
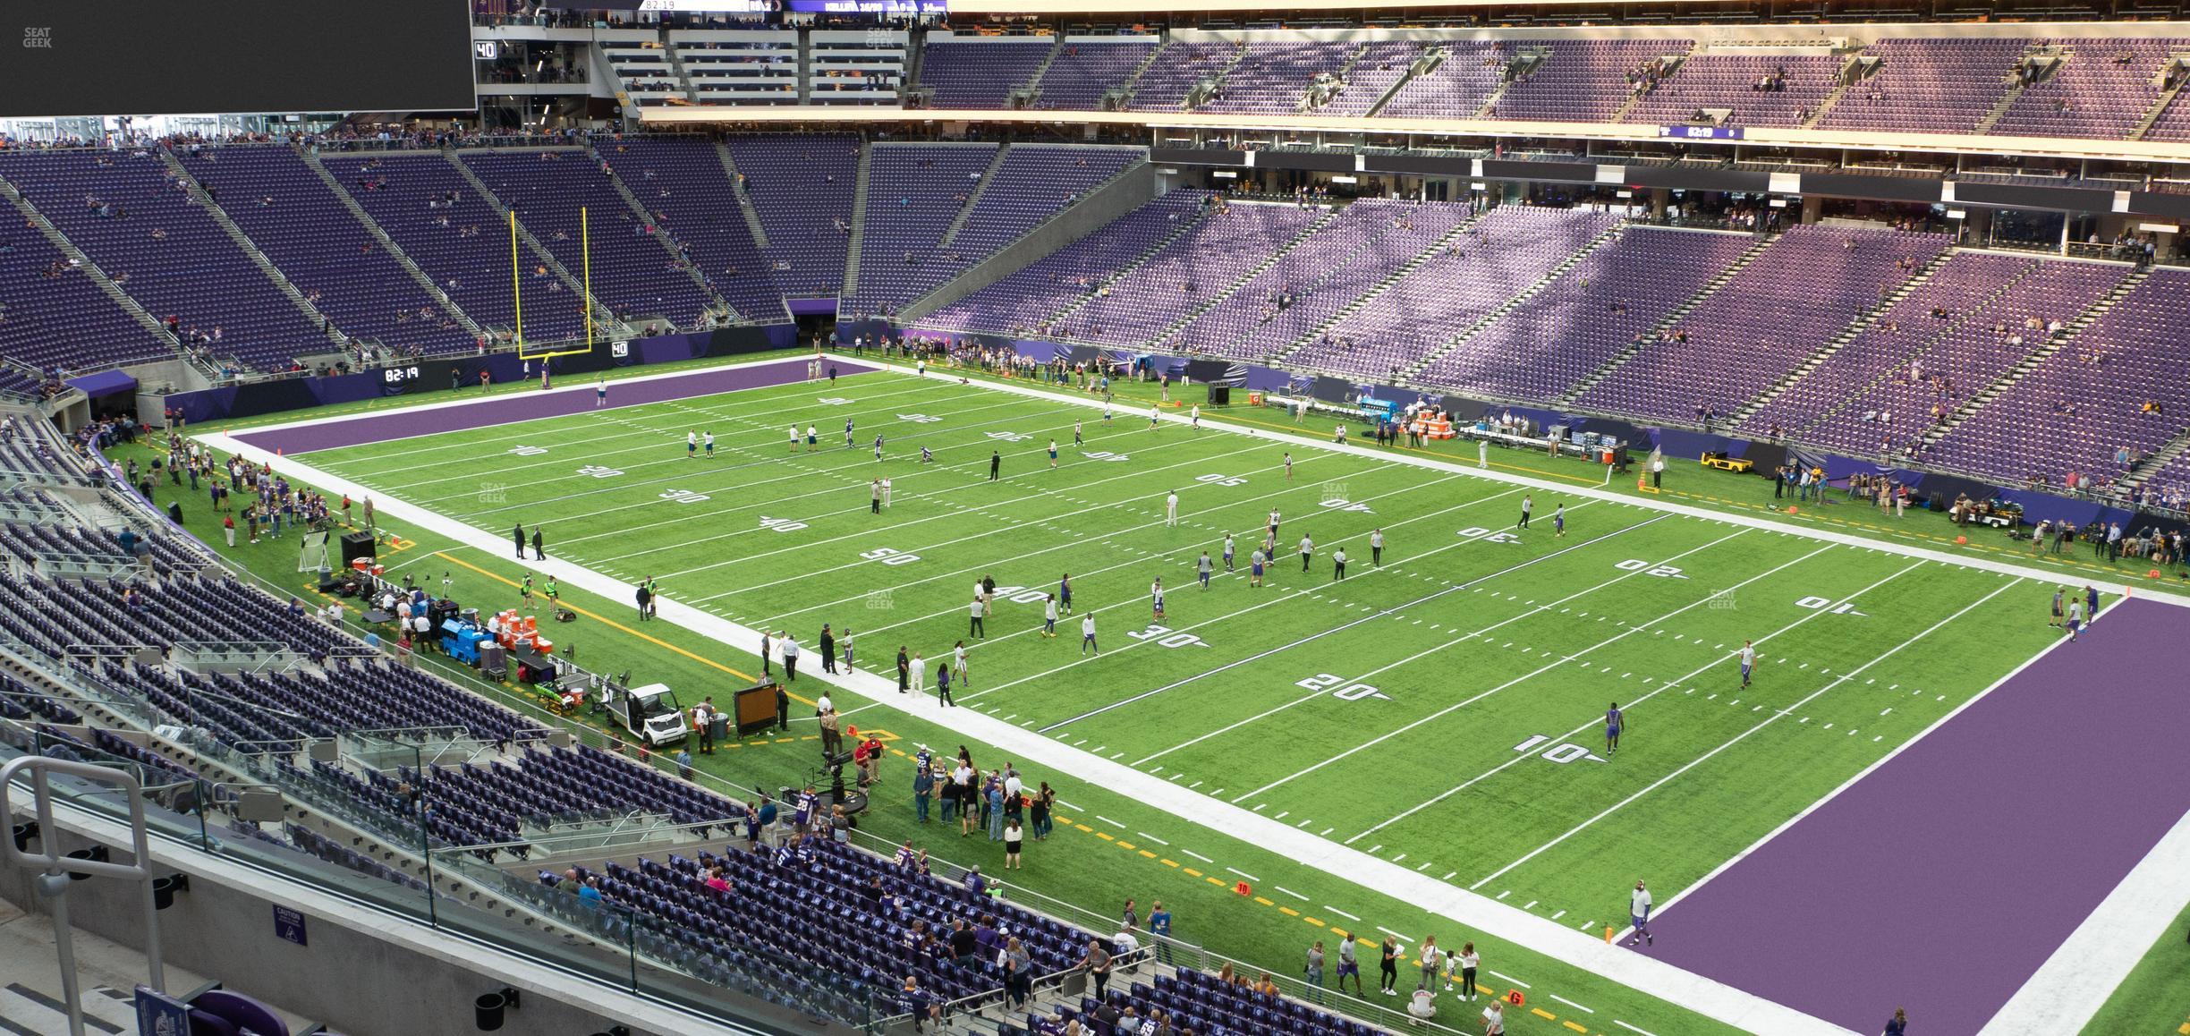
<svg viewBox="0 0 2190 1036"><path fill-rule="evenodd" d="M591 375L620 366L677 364L685 359L736 357L786 348L795 342L797 329L791 324L727 326L694 335L655 335L635 339L602 339L589 353L567 353L548 359L552 375ZM184 421L201 425L206 421L232 421L287 410L304 410L328 403L359 403L366 399L407 396L453 385L473 388L484 370L497 385L519 379L537 379L537 361L519 359L517 353L488 353L484 357L420 359L412 364L390 364L359 370L355 375L289 377L272 381L247 381L241 385L204 388L175 392L162 405L182 410Z"/></svg>

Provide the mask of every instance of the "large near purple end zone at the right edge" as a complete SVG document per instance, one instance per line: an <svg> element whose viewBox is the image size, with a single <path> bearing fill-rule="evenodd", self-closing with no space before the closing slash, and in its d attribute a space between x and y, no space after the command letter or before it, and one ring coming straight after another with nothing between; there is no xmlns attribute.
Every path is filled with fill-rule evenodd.
<svg viewBox="0 0 2190 1036"><path fill-rule="evenodd" d="M1697 975L1879 1032L1964 1036L2190 813L2175 646L2124 600L1651 924Z"/></svg>

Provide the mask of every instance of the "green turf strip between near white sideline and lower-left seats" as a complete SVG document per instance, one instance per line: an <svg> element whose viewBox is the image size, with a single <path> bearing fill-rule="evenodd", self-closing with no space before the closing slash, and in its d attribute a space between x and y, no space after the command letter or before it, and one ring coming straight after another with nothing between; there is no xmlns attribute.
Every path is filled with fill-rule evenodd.
<svg viewBox="0 0 2190 1036"><path fill-rule="evenodd" d="M182 493L171 486L160 486L155 493L162 504L175 495ZM184 499L191 502L195 497ZM403 541L401 550L383 556L396 567L396 572L420 572L429 585L436 585L436 589L440 574L447 572L451 589L460 600L515 605L515 580L521 578L523 572L519 563L497 554L460 548L447 539L405 523L383 523L383 532L394 532ZM239 541L228 556L265 578L274 591L315 600L311 591L313 580L296 572L296 537L267 537L261 543ZM740 675L758 672L758 659L751 655L725 653L718 644L668 622L637 624L631 618L629 605L622 600L602 600L578 589L565 589L563 600L580 609L580 620L574 626L558 626L556 633L563 633L565 644L578 646L583 655L580 661L589 666L609 670L631 668L648 679L661 679L679 688L723 688L727 677L725 668ZM681 655L679 651L690 655ZM506 705L534 716L541 723L565 723L541 712L537 699L530 694L508 686L480 683L469 668L447 666L436 655L423 655L420 661L473 690L480 690L482 694L491 694ZM736 679L727 686L736 686ZM957 745L968 743L968 738L957 732L909 716L889 716L880 723L883 725L878 729L894 738L891 745L900 747L900 751L918 745L955 749ZM699 758L696 767L710 775L710 784L731 795L742 795L745 788L756 786L775 788L780 784L802 782L815 773L815 736L810 729L810 721L797 723L793 740L788 743L780 743L773 736L745 738L736 743L736 747L723 747L716 756ZM596 745L604 740L589 727L580 727L578 734ZM981 743L970 743L970 749L977 760L990 760L990 764L1003 758L1001 751ZM668 764L664 758L655 758L653 762L664 767ZM904 762L891 764L891 769L883 775L885 782L904 780ZM1075 810L1060 810L1060 817L1067 821L1058 826L1051 841L1027 848L1027 865L1021 872L1003 872L1003 852L986 837L977 834L972 839L959 839L955 830L946 830L940 821L929 826L913 824L911 795L902 791L902 786L896 799L878 799L880 804L863 817L863 830L887 841L915 839L922 848L929 848L937 861L981 865L983 872L1003 876L1010 885L1023 885L1031 894L1091 911L1088 916L1067 913L1069 918L1082 922L1093 922L1093 916L1110 916L1126 898L1139 900L1143 913L1152 900L1165 900L1176 913L1176 937L1204 944L1213 953L1253 962L1257 966L1268 964L1281 975L1286 975L1286 966L1294 962L1310 942L1318 937L1329 942L1334 940L1332 931L1340 926L1367 931L1369 935L1380 935L1375 931L1378 926L1391 926L1413 940L1439 933L1437 929L1424 924L1424 913L1417 907L1382 896L1375 889L1334 880L1318 870L1303 867L1296 861L1268 850L1183 824L1143 804L1123 799L1099 786L1077 782L1069 775L1049 773L1040 764L1023 764L1023 769L1027 769L1031 780L1051 782L1058 788L1060 799L1075 806ZM1102 817L1121 821L1123 826L1106 824ZM1095 830L1110 834L1110 839L1099 839ZM1154 834L1154 839L1161 841L1145 841L1148 834ZM1143 856L1143 852L1159 854ZM1196 854L1209 856L1209 861L1202 861ZM1286 887L1312 896L1314 902L1294 898L1277 902L1270 896L1242 898L1231 891L1237 880L1231 870L1253 874L1266 883L1261 889L1266 894L1275 894L1277 887ZM1222 883L1211 885L1213 876L1220 876ZM1007 896L1021 894L1007 891ZM1036 900L1034 896L1023 898L1042 909L1060 909L1049 900ZM1353 922L1334 909L1362 920ZM1699 1018L1686 1010L1610 983L1557 959L1515 948L1498 940L1487 940L1474 933L1456 933L1448 926L1441 942L1454 942L1454 937L1474 937L1485 955L1485 966L1526 983L1524 992L1537 997L1540 1003L1544 1003L1544 994L1561 994L1570 1001L1594 1008L1599 1016L1586 1018L1597 1025L1592 1032L1605 1032L1610 1027L1610 1018L1623 1018L1658 1034L1734 1032L1726 1025ZM1369 953L1367 946L1364 953ZM1375 977L1371 968L1371 983L1373 981ZM1511 990L1513 983L1485 975L1485 988L1505 992ZM1391 1003L1373 994L1371 999ZM1332 994L1329 1001L1334 1005L1342 1005L1342 999L1336 994ZM1557 1003L1546 1005L1559 1008ZM1509 1027L1515 1034L1568 1032L1559 1025L1559 1021L1546 1021L1526 1012L1515 1012Z"/></svg>

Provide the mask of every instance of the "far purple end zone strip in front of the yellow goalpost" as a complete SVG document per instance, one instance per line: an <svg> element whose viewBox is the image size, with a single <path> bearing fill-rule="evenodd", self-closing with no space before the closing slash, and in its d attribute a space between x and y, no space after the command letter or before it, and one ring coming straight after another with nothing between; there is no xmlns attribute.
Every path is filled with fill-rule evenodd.
<svg viewBox="0 0 2190 1036"><path fill-rule="evenodd" d="M839 375L861 375L874 368L837 361ZM692 375L661 377L653 381L611 381L609 405L629 407L642 403L666 403L672 399L712 396L745 388L769 388L806 381L806 361L786 359L734 370L696 370ZM823 381L817 381L823 383ZM309 453L313 449L357 447L364 442L385 442L390 438L429 436L440 431L469 431L475 427L510 425L517 421L554 418L585 414L593 410L593 383L578 381L550 392L504 394L471 405L440 405L414 410L410 414L359 414L320 425L285 427L269 431L245 431L237 440L258 449L280 453Z"/></svg>

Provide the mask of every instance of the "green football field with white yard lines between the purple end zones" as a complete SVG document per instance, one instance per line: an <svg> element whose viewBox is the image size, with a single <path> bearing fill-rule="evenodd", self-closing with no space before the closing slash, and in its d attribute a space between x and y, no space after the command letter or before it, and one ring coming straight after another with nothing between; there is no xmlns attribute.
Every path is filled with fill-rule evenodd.
<svg viewBox="0 0 2190 1036"><path fill-rule="evenodd" d="M933 694L964 642L961 707L1581 931L1625 926L1638 878L1669 907L2056 640L2052 583L1185 418L863 372L291 456L545 526L563 563L788 631L804 672L828 624L861 670L918 653Z"/></svg>

